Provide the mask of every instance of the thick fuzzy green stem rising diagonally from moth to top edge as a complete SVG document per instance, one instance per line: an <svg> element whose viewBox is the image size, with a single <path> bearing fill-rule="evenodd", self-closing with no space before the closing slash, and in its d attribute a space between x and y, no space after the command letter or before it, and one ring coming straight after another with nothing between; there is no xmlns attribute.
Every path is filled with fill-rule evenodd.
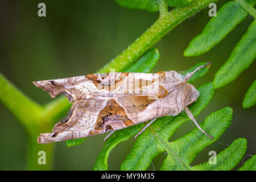
<svg viewBox="0 0 256 182"><path fill-rule="evenodd" d="M165 13L164 16L160 16L150 28L148 28L120 55L100 69L99 72L108 73L110 72L110 68L115 68L115 71L122 71L122 69L129 67L131 63L134 63L134 61L139 59L144 52L177 25L204 7L207 7L209 3L216 1L217 0L195 0L189 6L177 7L174 10Z"/></svg>

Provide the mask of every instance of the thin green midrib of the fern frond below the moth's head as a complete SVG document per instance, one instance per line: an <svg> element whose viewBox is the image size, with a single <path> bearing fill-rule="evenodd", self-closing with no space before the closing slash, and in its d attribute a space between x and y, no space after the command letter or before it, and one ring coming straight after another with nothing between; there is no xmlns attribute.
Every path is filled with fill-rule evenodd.
<svg viewBox="0 0 256 182"><path fill-rule="evenodd" d="M155 137L159 140L160 144L164 148L164 150L171 156L176 162L177 166L180 166L184 169L184 171L191 171L191 167L183 161L183 159L177 154L177 152L172 148L170 142L162 136L162 134L155 135Z"/></svg>

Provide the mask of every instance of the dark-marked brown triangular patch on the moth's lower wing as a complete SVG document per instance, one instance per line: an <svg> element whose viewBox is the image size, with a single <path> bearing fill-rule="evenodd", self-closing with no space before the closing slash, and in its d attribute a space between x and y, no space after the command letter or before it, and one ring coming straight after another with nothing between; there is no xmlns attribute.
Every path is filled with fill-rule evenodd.
<svg viewBox="0 0 256 182"><path fill-rule="evenodd" d="M111 99L98 114L96 127L93 131L90 131L90 134L95 135L101 130L108 132L122 129L125 126L128 127L134 124L135 123L127 117L123 107L119 106L115 100Z"/></svg>

